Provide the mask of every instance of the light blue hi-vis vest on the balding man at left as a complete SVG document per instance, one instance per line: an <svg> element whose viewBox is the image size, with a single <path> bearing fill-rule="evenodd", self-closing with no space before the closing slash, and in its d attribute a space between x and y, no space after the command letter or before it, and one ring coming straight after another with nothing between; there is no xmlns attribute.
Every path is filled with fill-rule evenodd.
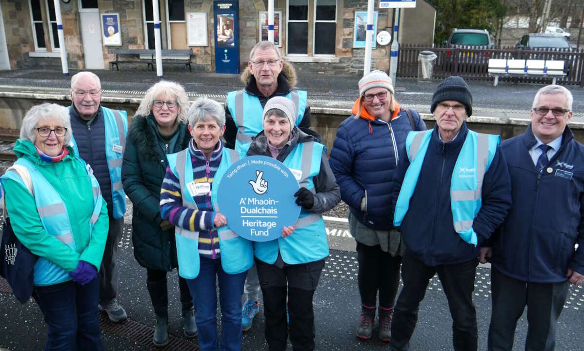
<svg viewBox="0 0 584 351"><path fill-rule="evenodd" d="M69 106L71 108L71 106ZM112 110L102 106L103 120L106 126L106 159L107 168L112 181L112 213L115 219L120 219L126 213L126 193L121 184L121 162L126 149L126 135L128 134L128 120L126 111ZM114 151L114 145L121 146L121 150ZM71 135L71 146L75 154L79 155L77 142Z"/></svg>

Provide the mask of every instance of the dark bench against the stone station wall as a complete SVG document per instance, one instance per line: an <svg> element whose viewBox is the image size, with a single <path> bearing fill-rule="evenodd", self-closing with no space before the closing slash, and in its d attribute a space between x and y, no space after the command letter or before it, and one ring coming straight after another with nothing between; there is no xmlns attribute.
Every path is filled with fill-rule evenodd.
<svg viewBox="0 0 584 351"><path fill-rule="evenodd" d="M116 66L116 70L120 71L119 64L147 64L151 71L154 71L154 65L156 64L156 50L152 49L115 49L114 54L116 54L116 59L110 61L110 69L113 71L113 66ZM185 50L161 50L162 62L165 64L183 64L185 65L185 71L189 68L191 69L191 55L193 54L193 49ZM142 58L143 57L143 58Z"/></svg>

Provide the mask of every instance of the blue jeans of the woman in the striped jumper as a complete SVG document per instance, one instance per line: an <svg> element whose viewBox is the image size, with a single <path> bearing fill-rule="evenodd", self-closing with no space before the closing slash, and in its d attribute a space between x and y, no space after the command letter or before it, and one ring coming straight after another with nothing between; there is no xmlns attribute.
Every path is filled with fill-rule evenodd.
<svg viewBox="0 0 584 351"><path fill-rule="evenodd" d="M199 276L187 279L193 296L194 319L199 329L201 351L219 348L217 335L217 286L221 303L221 350L241 350L241 296L247 271L227 274L221 266L221 259L201 257Z"/></svg>

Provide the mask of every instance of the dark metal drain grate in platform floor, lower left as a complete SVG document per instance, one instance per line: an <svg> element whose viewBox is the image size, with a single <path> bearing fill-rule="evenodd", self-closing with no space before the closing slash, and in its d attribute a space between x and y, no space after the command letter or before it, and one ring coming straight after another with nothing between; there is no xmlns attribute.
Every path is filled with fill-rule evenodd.
<svg viewBox="0 0 584 351"><path fill-rule="evenodd" d="M0 277L0 292L12 294L12 289L6 279ZM112 323L105 312L99 313L99 328L102 332L108 332L113 335L120 336L121 338L127 339L136 343L136 345L143 346L145 350L156 350L156 351L199 351L199 345L187 339L180 338L179 336L174 336L169 334L169 343L164 348L156 348L152 345L152 336L154 335L154 328L148 327L147 325L141 324L140 322L133 321L128 318L126 321L121 323ZM194 338L196 341L197 338Z"/></svg>

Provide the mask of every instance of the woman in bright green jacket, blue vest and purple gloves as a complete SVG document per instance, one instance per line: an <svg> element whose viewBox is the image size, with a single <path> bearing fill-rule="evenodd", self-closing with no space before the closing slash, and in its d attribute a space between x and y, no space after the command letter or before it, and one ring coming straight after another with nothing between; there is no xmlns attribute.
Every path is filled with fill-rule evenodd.
<svg viewBox="0 0 584 351"><path fill-rule="evenodd" d="M97 272L107 205L91 167L70 141L67 108L34 106L14 147L18 160L1 182L12 229L38 256L33 297L48 327L45 350L103 350Z"/></svg>

